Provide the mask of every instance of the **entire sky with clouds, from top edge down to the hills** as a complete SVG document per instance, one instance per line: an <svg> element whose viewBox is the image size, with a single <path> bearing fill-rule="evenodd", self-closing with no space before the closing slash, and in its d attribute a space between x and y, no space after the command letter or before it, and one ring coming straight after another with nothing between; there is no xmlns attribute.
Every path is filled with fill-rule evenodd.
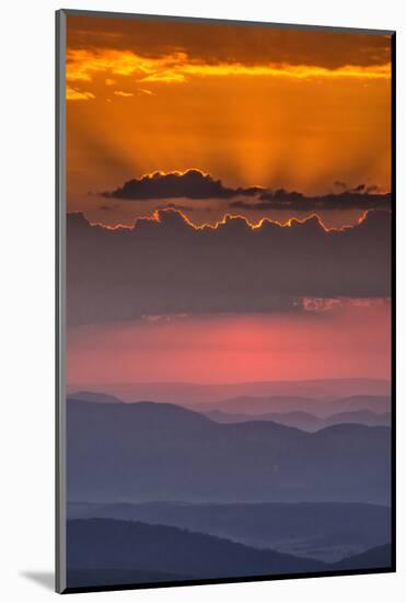
<svg viewBox="0 0 406 603"><path fill-rule="evenodd" d="M390 375L391 39L68 16L68 380Z"/></svg>

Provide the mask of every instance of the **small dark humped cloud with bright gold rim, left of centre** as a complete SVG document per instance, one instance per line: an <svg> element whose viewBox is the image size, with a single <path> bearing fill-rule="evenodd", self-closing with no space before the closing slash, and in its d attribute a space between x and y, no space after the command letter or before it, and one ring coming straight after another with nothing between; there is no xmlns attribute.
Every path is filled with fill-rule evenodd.
<svg viewBox="0 0 406 603"><path fill-rule="evenodd" d="M200 170L187 170L186 172L154 172L139 179L135 178L115 191L102 193L102 196L128 201L176 197L231 198L236 195L255 195L263 190L258 186L229 189L222 184L221 180L214 180L210 174L205 174Z"/></svg>

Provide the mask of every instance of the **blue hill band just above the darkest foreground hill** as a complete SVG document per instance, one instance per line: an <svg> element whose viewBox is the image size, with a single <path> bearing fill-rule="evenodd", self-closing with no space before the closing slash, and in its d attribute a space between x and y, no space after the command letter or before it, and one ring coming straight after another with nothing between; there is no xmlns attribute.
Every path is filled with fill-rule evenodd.
<svg viewBox="0 0 406 603"><path fill-rule="evenodd" d="M337 561L390 542L391 509L363 503L68 503L69 519L172 525L280 553Z"/></svg>

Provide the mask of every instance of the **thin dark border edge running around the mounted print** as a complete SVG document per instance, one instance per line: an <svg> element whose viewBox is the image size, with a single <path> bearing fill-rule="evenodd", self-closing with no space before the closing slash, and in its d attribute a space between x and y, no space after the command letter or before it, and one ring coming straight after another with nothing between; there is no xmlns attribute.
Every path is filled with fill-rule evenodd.
<svg viewBox="0 0 406 603"><path fill-rule="evenodd" d="M104 587L67 587L66 567L66 31L67 16L93 16L109 19L137 19L146 21L166 21L206 24L232 24L236 26L295 29L304 31L328 31L335 33L362 33L388 35L391 37L391 180L392 180L392 430L391 430L391 531L392 556L387 568L358 570L318 571L308 573L283 573L269 576L244 576L241 578L218 578L207 580L181 580L169 582L146 582L142 584L109 584ZM364 576L371 573L391 573L396 571L396 32L392 30L364 30L356 27L299 25L286 23L263 23L258 21L234 21L221 19L201 19L189 16L166 16L134 14L105 11L61 9L56 11L56 579L58 593L100 592L117 590L143 590L172 587L192 587L204 584L225 584L240 582L262 582L272 580L293 580L299 578L323 578L337 576Z"/></svg>

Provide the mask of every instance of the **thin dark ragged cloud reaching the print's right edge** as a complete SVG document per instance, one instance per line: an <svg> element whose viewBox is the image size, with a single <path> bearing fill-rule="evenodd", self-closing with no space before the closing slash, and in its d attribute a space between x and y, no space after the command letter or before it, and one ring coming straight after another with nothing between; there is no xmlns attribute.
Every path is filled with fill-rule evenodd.
<svg viewBox="0 0 406 603"><path fill-rule="evenodd" d="M336 185L338 182L335 183ZM344 182L339 185L346 186ZM258 201L233 201L229 203L232 209L251 209L272 212L276 209L290 209L294 212L317 212L324 209L388 209L391 207L391 194L376 194L378 186L359 184L353 189L337 194L320 196L305 196L297 191L264 192Z"/></svg>

